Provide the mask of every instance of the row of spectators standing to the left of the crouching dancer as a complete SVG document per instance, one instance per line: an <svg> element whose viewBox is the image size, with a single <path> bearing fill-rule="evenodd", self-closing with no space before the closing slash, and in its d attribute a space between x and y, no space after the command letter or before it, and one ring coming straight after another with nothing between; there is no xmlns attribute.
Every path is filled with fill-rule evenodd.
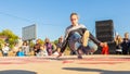
<svg viewBox="0 0 130 74"><path fill-rule="evenodd" d="M47 57L58 54L62 41L62 37L58 38L56 44L52 44L49 38L46 38L43 42L41 42L41 39L37 39L32 47L29 46L29 41L18 41L13 48L9 47L10 44L3 44L0 50L3 57L10 55L10 53L14 57L29 57L30 52L32 52L31 55Z"/></svg>

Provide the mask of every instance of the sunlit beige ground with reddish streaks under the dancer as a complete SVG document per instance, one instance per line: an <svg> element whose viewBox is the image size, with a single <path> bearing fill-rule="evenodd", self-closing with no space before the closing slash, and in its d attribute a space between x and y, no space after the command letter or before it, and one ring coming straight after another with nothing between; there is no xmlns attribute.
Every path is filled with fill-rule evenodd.
<svg viewBox="0 0 130 74"><path fill-rule="evenodd" d="M130 55L0 57L0 74L130 74Z"/></svg>

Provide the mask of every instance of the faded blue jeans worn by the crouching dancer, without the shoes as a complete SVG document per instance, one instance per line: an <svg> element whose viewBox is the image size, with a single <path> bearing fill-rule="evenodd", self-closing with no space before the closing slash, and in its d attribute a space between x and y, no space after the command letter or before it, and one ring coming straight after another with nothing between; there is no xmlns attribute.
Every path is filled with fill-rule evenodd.
<svg viewBox="0 0 130 74"><path fill-rule="evenodd" d="M74 51L82 48L83 51L88 51L88 50L98 50L98 46L96 44L94 44L91 39L88 40L88 46L87 47L82 47L81 46L81 36L78 33L74 33L69 39L68 39L68 45L69 48Z"/></svg>

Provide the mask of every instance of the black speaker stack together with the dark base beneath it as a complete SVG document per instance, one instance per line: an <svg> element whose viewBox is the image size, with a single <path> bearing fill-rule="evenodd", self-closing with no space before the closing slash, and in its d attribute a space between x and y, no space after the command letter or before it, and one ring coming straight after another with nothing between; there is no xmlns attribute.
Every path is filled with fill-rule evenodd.
<svg viewBox="0 0 130 74"><path fill-rule="evenodd" d="M113 20L96 21L95 22L95 35L96 38L102 42L107 42L109 47L109 54L115 53L114 42L114 23ZM102 48L100 47L95 53L101 54Z"/></svg>

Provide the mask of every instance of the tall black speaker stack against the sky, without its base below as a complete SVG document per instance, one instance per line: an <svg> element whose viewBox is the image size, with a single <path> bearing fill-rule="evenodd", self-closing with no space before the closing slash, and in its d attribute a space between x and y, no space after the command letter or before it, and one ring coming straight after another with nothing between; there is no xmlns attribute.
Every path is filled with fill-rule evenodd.
<svg viewBox="0 0 130 74"><path fill-rule="evenodd" d="M95 22L96 38L101 41L114 40L114 24L113 20L96 21Z"/></svg>

